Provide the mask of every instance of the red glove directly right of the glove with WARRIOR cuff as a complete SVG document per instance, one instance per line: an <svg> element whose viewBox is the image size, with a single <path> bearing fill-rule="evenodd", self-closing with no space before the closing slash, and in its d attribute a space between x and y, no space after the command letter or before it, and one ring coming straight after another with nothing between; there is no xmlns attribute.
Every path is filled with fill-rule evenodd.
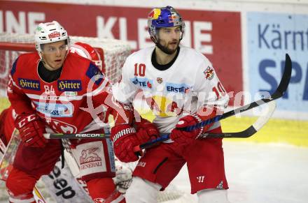
<svg viewBox="0 0 308 203"><path fill-rule="evenodd" d="M136 122L137 138L140 144L144 144L150 140L155 140L160 136L158 128L146 119L141 119L140 122Z"/></svg>

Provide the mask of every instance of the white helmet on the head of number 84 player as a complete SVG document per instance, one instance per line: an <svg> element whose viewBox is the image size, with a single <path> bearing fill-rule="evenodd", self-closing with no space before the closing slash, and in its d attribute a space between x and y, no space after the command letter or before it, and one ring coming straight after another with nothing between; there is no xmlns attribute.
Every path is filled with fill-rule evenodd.
<svg viewBox="0 0 308 203"><path fill-rule="evenodd" d="M34 38L38 54L42 52L41 45L43 44L66 40L66 44L69 46L69 36L67 35L66 30L55 20L38 24L34 33Z"/></svg>

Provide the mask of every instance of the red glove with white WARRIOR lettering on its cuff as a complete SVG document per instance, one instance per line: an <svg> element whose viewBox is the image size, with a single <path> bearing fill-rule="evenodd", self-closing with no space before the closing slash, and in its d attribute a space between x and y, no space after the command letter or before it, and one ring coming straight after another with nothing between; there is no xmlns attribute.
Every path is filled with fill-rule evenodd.
<svg viewBox="0 0 308 203"><path fill-rule="evenodd" d="M111 140L116 157L122 162L128 163L138 160L134 153L134 146L140 144L135 128L128 124L121 124L111 128Z"/></svg>

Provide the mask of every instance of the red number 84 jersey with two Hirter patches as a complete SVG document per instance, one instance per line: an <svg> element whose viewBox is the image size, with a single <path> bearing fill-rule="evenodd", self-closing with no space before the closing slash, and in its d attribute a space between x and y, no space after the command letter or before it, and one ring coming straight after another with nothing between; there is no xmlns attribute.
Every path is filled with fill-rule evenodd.
<svg viewBox="0 0 308 203"><path fill-rule="evenodd" d="M69 53L58 80L38 75L37 53L22 54L10 70L8 98L17 114L36 112L50 133L83 133L106 126L111 107L109 80L89 59ZM49 133L49 132L48 132Z"/></svg>

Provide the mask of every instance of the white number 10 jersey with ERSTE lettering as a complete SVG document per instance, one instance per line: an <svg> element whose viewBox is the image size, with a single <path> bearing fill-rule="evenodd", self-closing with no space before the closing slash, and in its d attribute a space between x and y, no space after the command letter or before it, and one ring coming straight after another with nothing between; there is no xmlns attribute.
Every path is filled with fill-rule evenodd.
<svg viewBox="0 0 308 203"><path fill-rule="evenodd" d="M158 70L151 62L154 50L139 50L126 59L122 78L113 85L113 96L121 103L141 100L141 108L148 105L160 133L170 133L181 117L204 105L221 109L228 105L228 94L203 54L180 45L172 66Z"/></svg>

